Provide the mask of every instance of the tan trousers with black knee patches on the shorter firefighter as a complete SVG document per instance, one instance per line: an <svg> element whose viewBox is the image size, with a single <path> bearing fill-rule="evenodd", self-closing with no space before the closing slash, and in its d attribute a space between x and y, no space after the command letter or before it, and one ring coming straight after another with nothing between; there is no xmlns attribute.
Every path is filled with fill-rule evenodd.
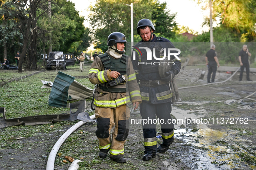
<svg viewBox="0 0 256 170"><path fill-rule="evenodd" d="M129 132L130 109L126 105L112 108L95 108L95 116L97 119L96 136L100 141L100 151L107 153L110 150L110 158L116 159L123 157L124 143ZM110 131L112 133L112 140Z"/></svg>

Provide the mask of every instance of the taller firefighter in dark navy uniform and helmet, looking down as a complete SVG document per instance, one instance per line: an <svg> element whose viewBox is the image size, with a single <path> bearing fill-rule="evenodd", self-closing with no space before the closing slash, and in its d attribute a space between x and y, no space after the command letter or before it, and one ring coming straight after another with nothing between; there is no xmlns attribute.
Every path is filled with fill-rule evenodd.
<svg viewBox="0 0 256 170"><path fill-rule="evenodd" d="M170 86L170 81L179 73L181 68L181 62L175 60L175 56L171 56L174 65L166 73L167 76L161 78L159 75L159 60L151 56L152 60L147 61L147 57L149 57L147 56L148 51L139 47L149 48L152 55L155 55L157 58L161 57L164 49L175 48L168 39L156 37L153 33L154 31L155 27L149 19L141 19L138 22L137 33L142 38L142 41L138 42L133 49L137 49L137 51L139 49L141 53L133 52L133 54L136 54L135 60L132 56L133 68L137 74L136 77L142 98L142 103L139 105L142 119L153 120L157 116L160 120L163 119L165 121L163 124L161 123L163 143L158 148L156 142L156 124L149 122L143 125L145 148L143 160L151 160L151 158L156 157L156 152L162 153L167 151L174 140L174 125L171 123L172 117L170 115L172 111L172 87ZM155 48L155 52L153 48ZM172 52L177 53L176 51ZM138 64L139 62L147 64Z"/></svg>

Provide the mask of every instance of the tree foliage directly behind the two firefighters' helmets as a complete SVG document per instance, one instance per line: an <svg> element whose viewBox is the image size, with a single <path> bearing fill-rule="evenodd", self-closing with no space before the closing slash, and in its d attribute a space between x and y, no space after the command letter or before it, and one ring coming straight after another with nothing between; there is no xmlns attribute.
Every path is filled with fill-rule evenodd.
<svg viewBox="0 0 256 170"><path fill-rule="evenodd" d="M140 19L151 19L155 24L156 33L161 36L175 36L175 16L166 10L166 3L158 0L97 0L95 6L91 6L91 32L93 33L96 48L103 51L108 49L107 36L111 32L122 32L128 41L131 40L130 6L133 3L133 32L136 35L137 22Z"/></svg>

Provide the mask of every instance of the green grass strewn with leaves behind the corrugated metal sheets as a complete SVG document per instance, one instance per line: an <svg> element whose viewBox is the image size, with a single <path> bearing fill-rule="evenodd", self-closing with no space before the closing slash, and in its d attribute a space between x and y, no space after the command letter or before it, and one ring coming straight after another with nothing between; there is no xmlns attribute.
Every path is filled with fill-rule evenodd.
<svg viewBox="0 0 256 170"><path fill-rule="evenodd" d="M84 67L86 68L83 72L80 71L79 66L69 66L67 70L58 71L78 77L75 78L75 80L93 89L94 85L90 83L88 78L85 78L90 66ZM11 119L32 115L69 113L68 108L56 108L49 106L48 100L51 89L41 89L43 85L41 80L54 82L58 71L42 71L39 74L0 86L0 107L5 107L6 118ZM22 77L34 72L35 71L26 71L26 73L18 74L17 71L12 71L10 73L7 71L0 71L0 77L7 80L12 78L12 76Z"/></svg>

